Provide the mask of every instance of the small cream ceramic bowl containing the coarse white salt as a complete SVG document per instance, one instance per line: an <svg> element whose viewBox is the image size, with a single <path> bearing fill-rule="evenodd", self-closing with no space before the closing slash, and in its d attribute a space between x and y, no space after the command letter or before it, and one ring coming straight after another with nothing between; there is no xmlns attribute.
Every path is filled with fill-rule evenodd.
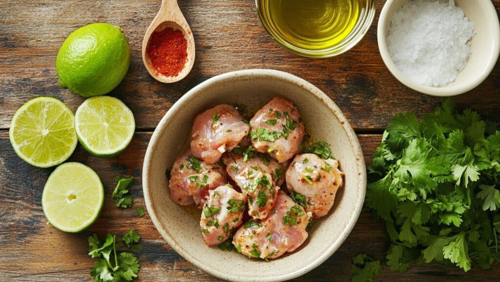
<svg viewBox="0 0 500 282"><path fill-rule="evenodd" d="M454 82L441 87L431 87L416 83L405 77L389 56L387 31L392 15L408 0L387 0L380 12L377 27L378 49L383 62L402 84L432 96L454 96L467 92L479 85L495 66L500 53L500 25L498 15L491 0L455 0L470 21L474 23L476 34L471 39L472 53L465 68Z"/></svg>

